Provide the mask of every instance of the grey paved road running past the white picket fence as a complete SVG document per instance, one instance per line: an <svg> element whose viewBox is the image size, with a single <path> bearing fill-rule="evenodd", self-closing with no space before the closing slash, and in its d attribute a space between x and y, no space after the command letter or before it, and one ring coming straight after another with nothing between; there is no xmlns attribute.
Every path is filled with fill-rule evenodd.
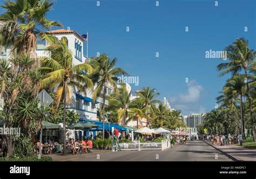
<svg viewBox="0 0 256 179"><path fill-rule="evenodd" d="M215 155L218 159L215 159ZM98 155L81 155L71 161L233 161L203 141L165 150L106 152Z"/></svg>

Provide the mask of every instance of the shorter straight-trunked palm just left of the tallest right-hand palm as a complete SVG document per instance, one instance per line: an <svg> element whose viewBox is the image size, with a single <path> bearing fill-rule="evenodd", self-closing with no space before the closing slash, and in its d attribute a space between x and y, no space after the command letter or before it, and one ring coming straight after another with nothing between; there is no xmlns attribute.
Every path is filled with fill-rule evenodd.
<svg viewBox="0 0 256 179"><path fill-rule="evenodd" d="M244 107L242 102L242 95L244 95L244 88L245 88L244 78L245 78L244 75L238 75L238 74L233 75L231 79L227 80L227 83L224 87L230 88L231 91L233 91L235 94L240 96L241 129L242 129L242 134L246 137Z"/></svg>

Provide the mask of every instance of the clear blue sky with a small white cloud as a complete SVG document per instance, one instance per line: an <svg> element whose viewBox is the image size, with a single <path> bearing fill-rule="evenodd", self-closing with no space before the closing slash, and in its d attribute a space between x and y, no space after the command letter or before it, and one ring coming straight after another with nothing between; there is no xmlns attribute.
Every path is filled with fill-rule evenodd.
<svg viewBox="0 0 256 179"><path fill-rule="evenodd" d="M131 84L133 91L156 88L159 99L167 97L182 114L214 108L228 78L217 78L216 66L223 60L206 59L205 51L221 51L239 37L256 49L253 0L221 0L218 6L211 0L159 0L159 6L150 0L96 2L58 0L48 18L81 35L89 31L90 57L97 52L117 57L119 67L139 77L138 86Z"/></svg>

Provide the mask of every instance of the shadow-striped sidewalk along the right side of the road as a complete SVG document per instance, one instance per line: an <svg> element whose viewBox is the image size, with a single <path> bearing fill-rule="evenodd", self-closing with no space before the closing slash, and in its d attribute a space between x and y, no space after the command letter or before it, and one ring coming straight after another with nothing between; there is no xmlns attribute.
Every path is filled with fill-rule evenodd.
<svg viewBox="0 0 256 179"><path fill-rule="evenodd" d="M246 149L235 145L220 146L220 144L212 145L209 141L204 141L215 149L221 150L221 152L232 157L237 161L255 161L256 162L256 150Z"/></svg>

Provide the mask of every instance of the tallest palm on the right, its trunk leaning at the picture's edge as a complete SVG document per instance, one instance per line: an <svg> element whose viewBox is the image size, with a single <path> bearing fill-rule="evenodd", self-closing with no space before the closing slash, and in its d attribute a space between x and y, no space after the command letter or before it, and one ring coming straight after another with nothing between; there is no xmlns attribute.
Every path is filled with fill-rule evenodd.
<svg viewBox="0 0 256 179"><path fill-rule="evenodd" d="M227 51L227 58L230 60L227 63L221 63L217 66L217 69L223 70L219 73L218 77L226 74L232 73L232 75L237 74L242 69L245 72L245 79L246 79L246 87L247 87L247 98L250 106L250 118L251 118L251 128L253 134L253 141L256 141L254 134L254 119L253 119L253 111L252 111L252 101L250 95L250 88L248 84L248 67L250 66L251 62L255 58L256 52L248 47L248 40L244 38L235 39L235 42L231 45L228 45L225 48Z"/></svg>

